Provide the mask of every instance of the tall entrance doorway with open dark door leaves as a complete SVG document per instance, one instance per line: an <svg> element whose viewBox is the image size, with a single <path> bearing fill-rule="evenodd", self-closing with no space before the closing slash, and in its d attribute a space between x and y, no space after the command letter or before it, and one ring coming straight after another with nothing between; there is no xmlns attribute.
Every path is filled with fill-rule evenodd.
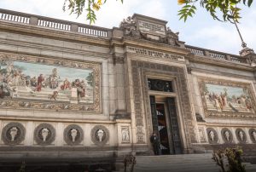
<svg viewBox="0 0 256 172"><path fill-rule="evenodd" d="M165 102L156 102L150 95L153 130L159 137L160 154L182 153L174 97L166 97Z"/></svg>

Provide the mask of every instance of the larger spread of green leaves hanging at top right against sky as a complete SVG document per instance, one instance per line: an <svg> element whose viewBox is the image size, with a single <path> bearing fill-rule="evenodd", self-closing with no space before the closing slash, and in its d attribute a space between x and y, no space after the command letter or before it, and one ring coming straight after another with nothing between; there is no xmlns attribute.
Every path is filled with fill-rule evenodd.
<svg viewBox="0 0 256 172"><path fill-rule="evenodd" d="M178 11L180 20L186 21L188 17L195 14L195 3L200 3L201 8L207 9L214 20L238 22L241 18L241 9L237 6L241 3L250 7L253 0L177 0L178 4L184 4ZM222 19L218 17L218 12L222 14Z"/></svg>

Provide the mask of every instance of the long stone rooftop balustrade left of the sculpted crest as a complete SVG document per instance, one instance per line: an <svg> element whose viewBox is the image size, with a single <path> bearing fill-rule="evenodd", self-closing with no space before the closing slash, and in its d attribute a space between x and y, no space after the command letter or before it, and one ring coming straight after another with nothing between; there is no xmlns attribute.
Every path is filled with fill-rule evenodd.
<svg viewBox="0 0 256 172"><path fill-rule="evenodd" d="M67 20L57 20L34 14L15 12L7 9L0 9L0 20L7 20L26 25L47 27L50 29L67 32L78 32L84 35L94 37L111 37L112 35L111 30L108 28L79 24Z"/></svg>

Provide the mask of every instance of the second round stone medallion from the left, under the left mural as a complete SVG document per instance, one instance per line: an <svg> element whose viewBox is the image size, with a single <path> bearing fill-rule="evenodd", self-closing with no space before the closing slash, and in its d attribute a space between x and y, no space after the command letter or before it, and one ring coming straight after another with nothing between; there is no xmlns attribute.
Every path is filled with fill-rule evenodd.
<svg viewBox="0 0 256 172"><path fill-rule="evenodd" d="M50 145L55 140L55 128L49 123L41 123L34 131L38 145Z"/></svg>

